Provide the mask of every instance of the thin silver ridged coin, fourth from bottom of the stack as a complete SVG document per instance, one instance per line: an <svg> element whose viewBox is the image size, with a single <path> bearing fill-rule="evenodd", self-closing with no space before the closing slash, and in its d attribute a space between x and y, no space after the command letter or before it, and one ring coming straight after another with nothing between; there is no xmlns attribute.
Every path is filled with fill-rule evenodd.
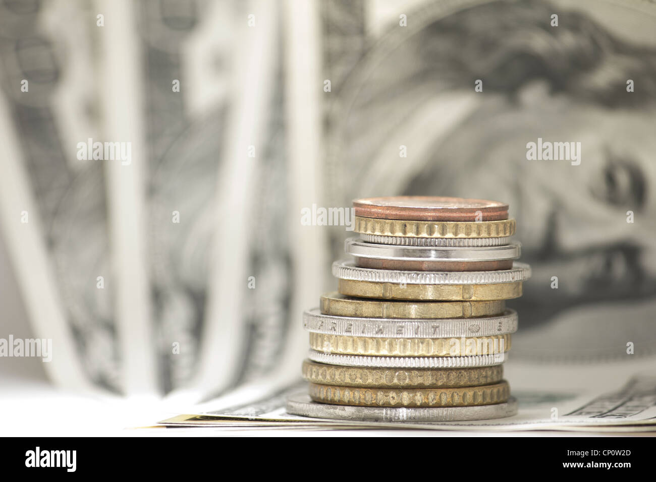
<svg viewBox="0 0 656 482"><path fill-rule="evenodd" d="M508 358L507 353L491 355L468 355L462 357L367 357L363 355L340 355L308 351L308 358L327 365L342 367L377 367L377 368L469 368L491 367L501 365Z"/></svg>

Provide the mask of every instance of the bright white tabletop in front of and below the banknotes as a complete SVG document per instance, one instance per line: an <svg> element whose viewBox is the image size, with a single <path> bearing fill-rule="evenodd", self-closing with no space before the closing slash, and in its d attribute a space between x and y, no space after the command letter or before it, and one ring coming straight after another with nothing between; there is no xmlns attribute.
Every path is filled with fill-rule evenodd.
<svg viewBox="0 0 656 482"><path fill-rule="evenodd" d="M177 403L149 397L83 397L44 382L0 379L2 434L7 437L594 437L625 433L447 432L443 430L291 430L288 428L152 428L159 420L185 412ZM188 407L186 407L188 409ZM654 436L636 433L635 436Z"/></svg>

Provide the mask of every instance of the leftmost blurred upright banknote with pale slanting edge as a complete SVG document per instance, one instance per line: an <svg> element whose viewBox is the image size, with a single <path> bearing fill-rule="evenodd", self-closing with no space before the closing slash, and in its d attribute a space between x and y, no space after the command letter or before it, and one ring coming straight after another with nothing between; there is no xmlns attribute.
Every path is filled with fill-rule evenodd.
<svg viewBox="0 0 656 482"><path fill-rule="evenodd" d="M106 176L77 155L100 132L91 14L85 3L0 5L0 204L33 332L52 338L51 378L117 392Z"/></svg>

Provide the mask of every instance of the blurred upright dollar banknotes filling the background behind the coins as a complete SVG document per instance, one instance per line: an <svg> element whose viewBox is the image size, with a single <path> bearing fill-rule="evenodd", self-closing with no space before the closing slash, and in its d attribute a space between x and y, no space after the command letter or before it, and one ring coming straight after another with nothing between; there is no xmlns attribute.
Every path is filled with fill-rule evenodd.
<svg viewBox="0 0 656 482"><path fill-rule="evenodd" d="M0 371L291 384L352 234L301 210L405 194L510 204L518 373L653 372L655 32L638 0L0 2L0 336L53 353Z"/></svg>

